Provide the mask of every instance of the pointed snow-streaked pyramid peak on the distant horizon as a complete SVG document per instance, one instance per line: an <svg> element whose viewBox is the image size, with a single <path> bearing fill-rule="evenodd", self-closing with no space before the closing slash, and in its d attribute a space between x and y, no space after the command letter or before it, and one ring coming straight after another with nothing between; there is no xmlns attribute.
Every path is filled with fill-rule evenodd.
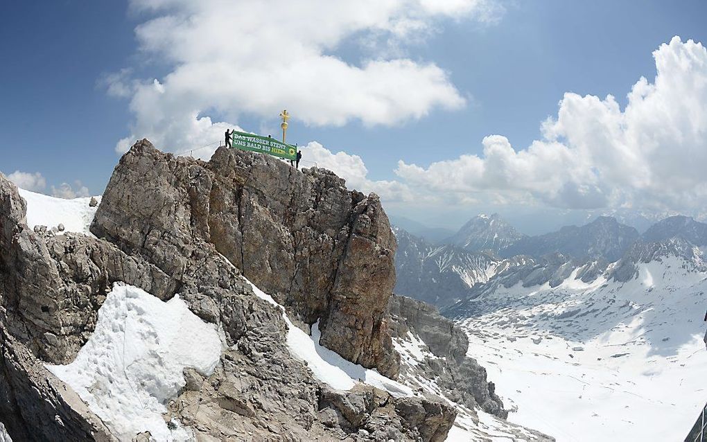
<svg viewBox="0 0 707 442"><path fill-rule="evenodd" d="M481 214L470 219L444 243L457 245L472 252L490 250L498 253L523 238L525 235L503 221L498 214Z"/></svg>

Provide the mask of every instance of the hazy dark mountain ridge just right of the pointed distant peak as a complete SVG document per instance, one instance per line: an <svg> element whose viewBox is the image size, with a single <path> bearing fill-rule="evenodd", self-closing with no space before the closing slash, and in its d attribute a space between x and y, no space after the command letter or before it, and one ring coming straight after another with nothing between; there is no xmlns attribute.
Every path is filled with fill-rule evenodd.
<svg viewBox="0 0 707 442"><path fill-rule="evenodd" d="M501 250L501 256L541 257L559 252L577 260L614 262L638 238L635 228L609 216L600 216L584 226L566 226L545 235L522 238Z"/></svg>

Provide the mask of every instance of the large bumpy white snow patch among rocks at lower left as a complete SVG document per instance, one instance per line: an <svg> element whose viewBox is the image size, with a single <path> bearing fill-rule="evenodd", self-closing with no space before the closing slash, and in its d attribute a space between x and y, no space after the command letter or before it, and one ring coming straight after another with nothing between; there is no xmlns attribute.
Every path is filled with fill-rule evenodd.
<svg viewBox="0 0 707 442"><path fill-rule="evenodd" d="M165 404L185 385L184 368L209 376L220 357L216 326L194 315L179 296L163 302L115 284L74 362L47 368L121 440L150 431L157 441L187 441L189 429L177 425L170 431L165 424Z"/></svg>

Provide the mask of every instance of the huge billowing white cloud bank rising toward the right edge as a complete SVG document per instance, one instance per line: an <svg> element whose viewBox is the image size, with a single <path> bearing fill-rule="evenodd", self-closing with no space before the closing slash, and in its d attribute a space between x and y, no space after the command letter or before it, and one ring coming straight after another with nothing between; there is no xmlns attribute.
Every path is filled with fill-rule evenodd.
<svg viewBox="0 0 707 442"><path fill-rule="evenodd" d="M707 50L674 37L653 52L657 75L640 78L621 110L611 95L566 93L542 138L516 150L486 136L481 155L421 167L399 161L409 185L457 199L554 207L699 209L707 203Z"/></svg>

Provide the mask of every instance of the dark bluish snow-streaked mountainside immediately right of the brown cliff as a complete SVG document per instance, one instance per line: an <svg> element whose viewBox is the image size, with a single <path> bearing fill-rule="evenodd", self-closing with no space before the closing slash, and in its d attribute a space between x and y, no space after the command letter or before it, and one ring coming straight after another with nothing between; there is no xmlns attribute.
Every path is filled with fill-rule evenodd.
<svg viewBox="0 0 707 442"><path fill-rule="evenodd" d="M402 228L393 227L395 293L446 306L468 296L474 284L496 273L498 260L455 245L431 245Z"/></svg>

